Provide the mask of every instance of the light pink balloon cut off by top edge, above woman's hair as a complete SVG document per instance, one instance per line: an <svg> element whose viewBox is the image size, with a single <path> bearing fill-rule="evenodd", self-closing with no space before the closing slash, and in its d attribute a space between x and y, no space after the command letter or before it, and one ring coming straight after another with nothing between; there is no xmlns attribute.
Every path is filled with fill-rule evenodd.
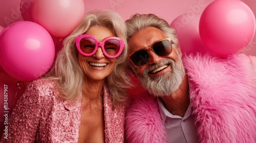
<svg viewBox="0 0 256 143"><path fill-rule="evenodd" d="M34 0L34 22L55 37L68 36L81 22L84 15L82 0Z"/></svg>

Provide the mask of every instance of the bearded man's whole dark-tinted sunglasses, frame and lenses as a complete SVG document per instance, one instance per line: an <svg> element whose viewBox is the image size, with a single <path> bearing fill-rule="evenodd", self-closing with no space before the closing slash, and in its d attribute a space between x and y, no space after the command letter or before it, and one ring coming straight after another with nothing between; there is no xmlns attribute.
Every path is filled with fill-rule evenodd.
<svg viewBox="0 0 256 143"><path fill-rule="evenodd" d="M144 47L142 50L133 52L127 58L136 67L142 67L150 60L148 51L152 50L156 55L161 57L167 56L170 53L172 53L172 50L173 50L172 43L173 42L172 40L170 40L170 38L165 38L153 43L150 49L146 50L146 47Z"/></svg>

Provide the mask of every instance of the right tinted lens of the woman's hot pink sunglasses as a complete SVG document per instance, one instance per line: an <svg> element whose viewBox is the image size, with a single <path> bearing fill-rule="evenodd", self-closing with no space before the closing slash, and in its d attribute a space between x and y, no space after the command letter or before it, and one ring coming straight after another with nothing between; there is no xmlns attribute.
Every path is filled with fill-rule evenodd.
<svg viewBox="0 0 256 143"><path fill-rule="evenodd" d="M116 39L106 40L104 43L104 50L106 54L115 56L120 50L120 42Z"/></svg>

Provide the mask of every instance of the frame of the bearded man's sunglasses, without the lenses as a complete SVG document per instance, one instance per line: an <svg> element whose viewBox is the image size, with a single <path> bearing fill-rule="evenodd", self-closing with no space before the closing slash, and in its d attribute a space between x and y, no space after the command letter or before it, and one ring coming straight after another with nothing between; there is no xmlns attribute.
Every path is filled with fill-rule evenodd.
<svg viewBox="0 0 256 143"><path fill-rule="evenodd" d="M173 41L172 41L172 39L170 39L170 38L168 37L168 38L164 38L164 39L158 40L158 41L154 42L154 43L151 44L151 45L148 45L148 46L150 46L150 48L147 49L147 50L146 50L146 48L147 48L148 46L143 47L142 49L137 50L137 51L131 53L131 54L127 57L127 59L129 59L129 60L133 63L133 61L132 61L132 59L131 59L131 56L132 56L134 53L136 53L136 52L138 52L138 51L141 51L141 50L147 52L147 54L148 54L148 61L150 61L150 53L148 53L148 51L153 51L157 56L159 56L159 57L164 57L164 56L158 55L158 54L153 50L153 45L156 44L157 42L160 42L160 41L163 41L163 40L168 40L168 41L170 42L170 47L172 48L172 50L170 51L170 53L172 53L172 52L173 52L173 46L172 46ZM170 53L169 53L169 54L170 54ZM167 54L167 55L168 55L168 54ZM167 56L167 55L166 55L166 56ZM135 65L134 63L133 63L133 65L136 66L136 67L143 67L143 66L145 66L145 65L148 63L148 61L147 61L144 65L142 65L142 66L137 66L137 65Z"/></svg>

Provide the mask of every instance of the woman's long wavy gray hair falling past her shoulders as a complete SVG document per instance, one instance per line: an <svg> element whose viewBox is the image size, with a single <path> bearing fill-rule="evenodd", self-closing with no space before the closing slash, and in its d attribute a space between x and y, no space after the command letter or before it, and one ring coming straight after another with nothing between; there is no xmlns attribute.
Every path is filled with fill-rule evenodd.
<svg viewBox="0 0 256 143"><path fill-rule="evenodd" d="M110 28L115 36L120 37L125 47L117 58L112 73L106 77L106 86L109 89L114 106L124 103L127 97L127 88L130 87L130 78L127 76L126 28L121 16L113 11L90 11L84 16L80 25L63 41L63 47L59 51L55 65L49 72L50 79L55 79L62 95L60 97L73 102L79 101L83 86L83 71L78 64L78 51L75 38L84 34L90 27L104 26Z"/></svg>

